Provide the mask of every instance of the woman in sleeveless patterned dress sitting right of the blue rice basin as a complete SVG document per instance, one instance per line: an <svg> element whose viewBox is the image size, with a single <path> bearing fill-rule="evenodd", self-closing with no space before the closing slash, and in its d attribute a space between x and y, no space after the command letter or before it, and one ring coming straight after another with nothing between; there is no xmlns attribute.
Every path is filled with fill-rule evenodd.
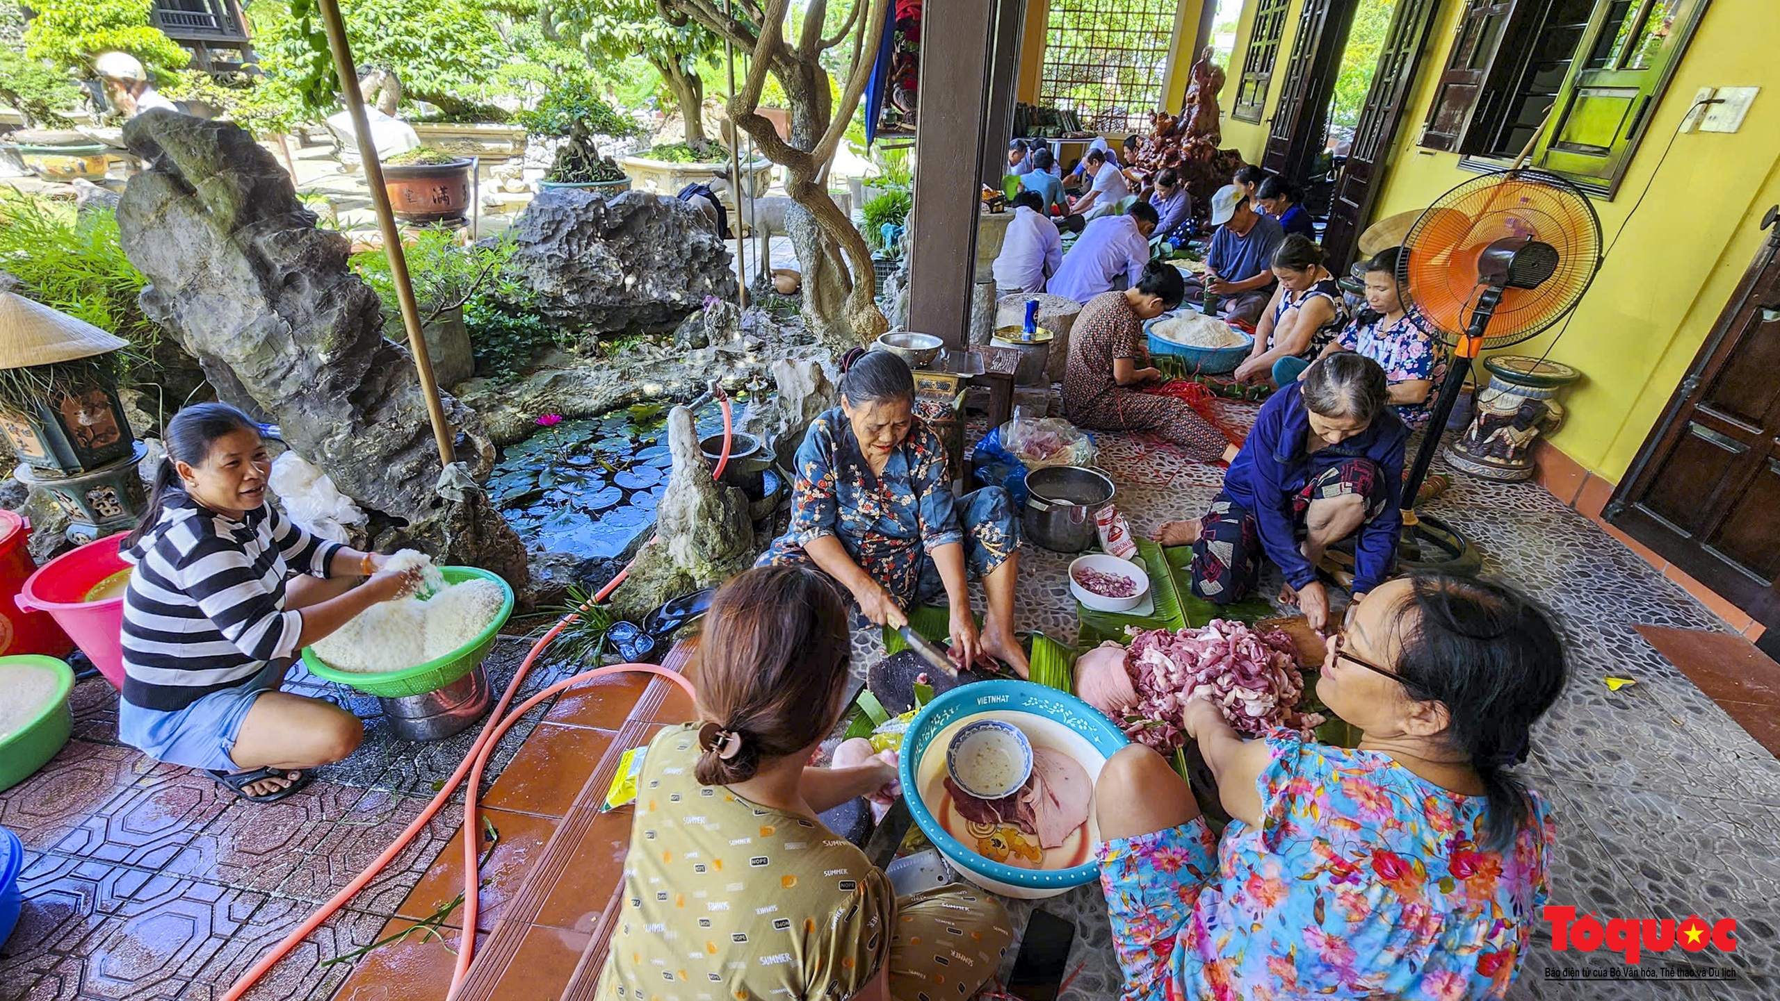
<svg viewBox="0 0 1780 1001"><path fill-rule="evenodd" d="M1347 318L1340 286L1323 267L1323 249L1308 236L1292 235L1280 244L1273 252L1273 276L1280 283L1255 327L1253 350L1235 366L1237 382L1273 379L1276 386L1283 386L1280 375L1303 372L1290 359L1315 361L1335 341ZM1280 373L1274 373L1276 366Z"/></svg>

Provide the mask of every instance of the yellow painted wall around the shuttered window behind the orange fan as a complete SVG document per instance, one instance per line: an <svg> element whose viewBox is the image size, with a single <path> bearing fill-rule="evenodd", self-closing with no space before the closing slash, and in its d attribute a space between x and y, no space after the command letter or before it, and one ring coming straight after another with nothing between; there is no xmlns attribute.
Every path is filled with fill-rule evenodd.
<svg viewBox="0 0 1780 1001"><path fill-rule="evenodd" d="M1456 155L1415 146L1461 5L1447 0L1435 28L1374 219L1422 208L1476 176L1458 167ZM1773 0L1712 0L1618 196L1595 199L1606 242L1618 244L1550 350L1584 377L1565 396L1570 416L1552 444L1609 480L1623 476L1661 418L1760 244L1762 213L1780 203L1780 60L1771 27ZM1664 144L1705 85L1755 85L1762 92L1739 132L1677 135L1652 180ZM1225 135L1228 140L1228 128ZM1552 336L1513 352L1540 354Z"/></svg>

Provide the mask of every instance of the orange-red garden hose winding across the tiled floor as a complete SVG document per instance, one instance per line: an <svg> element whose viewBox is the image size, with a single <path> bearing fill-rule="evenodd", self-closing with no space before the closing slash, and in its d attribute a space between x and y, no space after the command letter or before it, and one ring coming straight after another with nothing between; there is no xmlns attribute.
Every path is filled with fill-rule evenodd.
<svg viewBox="0 0 1780 1001"><path fill-rule="evenodd" d="M712 478L721 478L723 469L730 464L730 439L733 434L733 421L730 411L730 398L724 396L721 389L716 393L716 396L719 405L723 407L723 452L717 457L716 469L712 469ZM290 949L297 948L303 942L303 939L310 937L310 933L320 928L324 921L333 917L336 910L340 910L342 907L347 905L347 901L358 896L358 891L365 889L365 885L372 878L376 878L377 873L384 869L384 866L393 862L395 857L402 853L402 848L408 848L408 843L413 841L415 836L420 834L420 830L433 821L433 818L440 813L440 809L445 805L450 795L457 791L457 786L463 782L465 775L473 775L473 781L470 782L470 791L465 797L465 823L463 823L463 843L465 843L463 928L466 932L461 933L461 942L457 944L457 965L452 971L450 992L447 994L447 999L457 994L459 987L463 985L463 978L470 969L470 958L475 951L475 921L477 921L477 903L479 903L477 884L481 884L481 871L475 857L477 855L475 805L477 800L481 798L479 786L482 779L482 768L488 765L488 757L490 754L493 754L495 745L500 741L500 736L506 734L507 729L511 729L513 724L520 720L520 717L523 717L529 709L536 708L538 702L545 701L550 695L564 692L573 685L593 681L596 677L609 677L614 674L628 674L628 672L655 674L659 677L673 681L682 690L685 690L687 695L696 697L692 692L692 683L673 670L657 667L653 663L616 663L609 667L584 670L571 677L564 677L562 681L557 681L555 685L545 688L543 692L522 702L520 708L514 709L513 713L506 713L507 704L513 702L513 697L518 693L520 685L525 683L525 676L530 674L532 665L545 653L550 642L555 640L557 635L561 635L562 629L566 629L571 622L575 622L575 619L578 619L582 612L605 601L614 590L618 590L618 585L621 585L627 576L630 576L628 564L625 565L625 569L618 571L618 576L607 581L607 585L602 587L598 594L589 597L586 605L564 615L561 622L552 626L550 631L545 633L543 638L532 645L532 649L525 654L525 660L520 661L520 669L513 672L513 681L507 683L507 690L500 695L500 702L495 704L495 709L488 715L488 722L482 724L482 733L477 734L475 743L470 745L470 750L465 754L457 768L450 773L449 779L445 779L443 786L440 786L440 791L433 795L425 809L420 811L420 816L411 820L408 827L395 836L395 841L392 841L390 846L384 848L381 855L372 859L370 866L367 866L365 871L352 877L352 882L349 882L344 889L340 889L340 893L333 894L333 898L329 898L328 903L320 905L297 928L294 928L276 946L272 946L271 951L260 957L253 964L253 967L249 967L247 973L244 973L240 980L237 980L228 989L228 992L222 994L222 1001L239 1001L242 996L246 996L247 990L251 990L253 985L258 983L262 976L271 973L279 960L290 955Z"/></svg>

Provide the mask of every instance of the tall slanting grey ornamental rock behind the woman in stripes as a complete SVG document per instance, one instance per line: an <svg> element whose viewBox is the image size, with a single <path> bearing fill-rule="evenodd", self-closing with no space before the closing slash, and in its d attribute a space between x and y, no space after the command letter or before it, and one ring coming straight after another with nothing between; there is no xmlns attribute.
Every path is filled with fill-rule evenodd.
<svg viewBox="0 0 1780 1001"><path fill-rule="evenodd" d="M377 295L347 240L315 228L290 176L240 128L151 110L125 126L150 164L117 206L142 311L176 332L217 395L285 441L370 514L367 542L415 546L523 589L525 548L477 484L495 448L445 396L457 437L440 464L408 348L383 338Z"/></svg>

